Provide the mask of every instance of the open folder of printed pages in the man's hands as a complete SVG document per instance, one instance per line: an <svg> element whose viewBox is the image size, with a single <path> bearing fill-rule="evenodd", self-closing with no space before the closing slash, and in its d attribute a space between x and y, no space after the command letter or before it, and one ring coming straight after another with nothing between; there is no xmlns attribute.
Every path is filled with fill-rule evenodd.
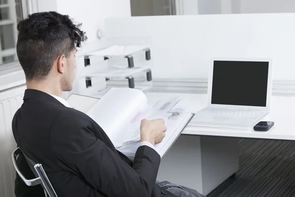
<svg viewBox="0 0 295 197"><path fill-rule="evenodd" d="M134 158L140 143L141 120L163 118L166 136L155 145L162 157L192 117L179 100L174 97L148 102L140 90L112 88L87 114L107 133L116 149L130 159Z"/></svg>

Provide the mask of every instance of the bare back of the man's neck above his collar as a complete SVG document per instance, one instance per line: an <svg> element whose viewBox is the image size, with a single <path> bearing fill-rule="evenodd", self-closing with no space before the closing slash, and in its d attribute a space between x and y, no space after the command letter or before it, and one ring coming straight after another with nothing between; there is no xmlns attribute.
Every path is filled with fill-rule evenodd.
<svg viewBox="0 0 295 197"><path fill-rule="evenodd" d="M62 90L59 88L57 84L51 83L49 81L28 81L27 82L28 89L39 90L45 92L49 95L55 95L61 97Z"/></svg>

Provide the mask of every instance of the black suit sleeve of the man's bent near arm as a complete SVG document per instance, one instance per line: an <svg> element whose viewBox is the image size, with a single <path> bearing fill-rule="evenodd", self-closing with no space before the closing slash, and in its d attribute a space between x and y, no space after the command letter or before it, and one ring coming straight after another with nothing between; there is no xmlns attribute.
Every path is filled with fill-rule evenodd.
<svg viewBox="0 0 295 197"><path fill-rule="evenodd" d="M59 120L66 118L69 117ZM74 121L59 121L51 130L50 147L57 160L108 197L151 196L160 156L148 146L137 149L131 167L97 139L90 127L81 127Z"/></svg>

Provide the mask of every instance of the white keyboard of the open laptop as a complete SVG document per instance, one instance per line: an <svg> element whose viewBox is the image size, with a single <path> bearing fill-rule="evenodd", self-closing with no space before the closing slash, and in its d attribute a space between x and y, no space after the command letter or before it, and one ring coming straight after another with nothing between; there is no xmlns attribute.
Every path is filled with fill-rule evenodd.
<svg viewBox="0 0 295 197"><path fill-rule="evenodd" d="M258 118L262 115L262 111L252 110L234 110L234 109L206 109L201 110L198 114L223 116L223 117L236 117L236 118Z"/></svg>

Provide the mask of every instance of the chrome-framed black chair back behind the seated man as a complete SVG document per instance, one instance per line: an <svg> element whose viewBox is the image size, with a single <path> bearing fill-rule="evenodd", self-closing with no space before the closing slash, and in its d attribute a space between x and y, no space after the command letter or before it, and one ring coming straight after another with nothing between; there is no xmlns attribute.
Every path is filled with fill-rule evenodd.
<svg viewBox="0 0 295 197"><path fill-rule="evenodd" d="M14 168L16 170L16 172L19 174L19 176L21 177L21 179L26 183L26 185L28 186L35 186L35 185L39 185L41 184L41 186L44 189L44 193L45 193L45 197L58 197L56 192L54 191L43 167L41 164L36 164L34 163L31 159L29 159L24 153L24 156L31 168L31 170L33 171L33 173L35 174L35 176L37 178L34 179L26 179L24 177L24 175L22 174L22 172L19 170L19 167L17 165L17 159L19 157L19 155L23 153L22 150L18 147L17 149L15 149L12 153L12 162L14 165Z"/></svg>

